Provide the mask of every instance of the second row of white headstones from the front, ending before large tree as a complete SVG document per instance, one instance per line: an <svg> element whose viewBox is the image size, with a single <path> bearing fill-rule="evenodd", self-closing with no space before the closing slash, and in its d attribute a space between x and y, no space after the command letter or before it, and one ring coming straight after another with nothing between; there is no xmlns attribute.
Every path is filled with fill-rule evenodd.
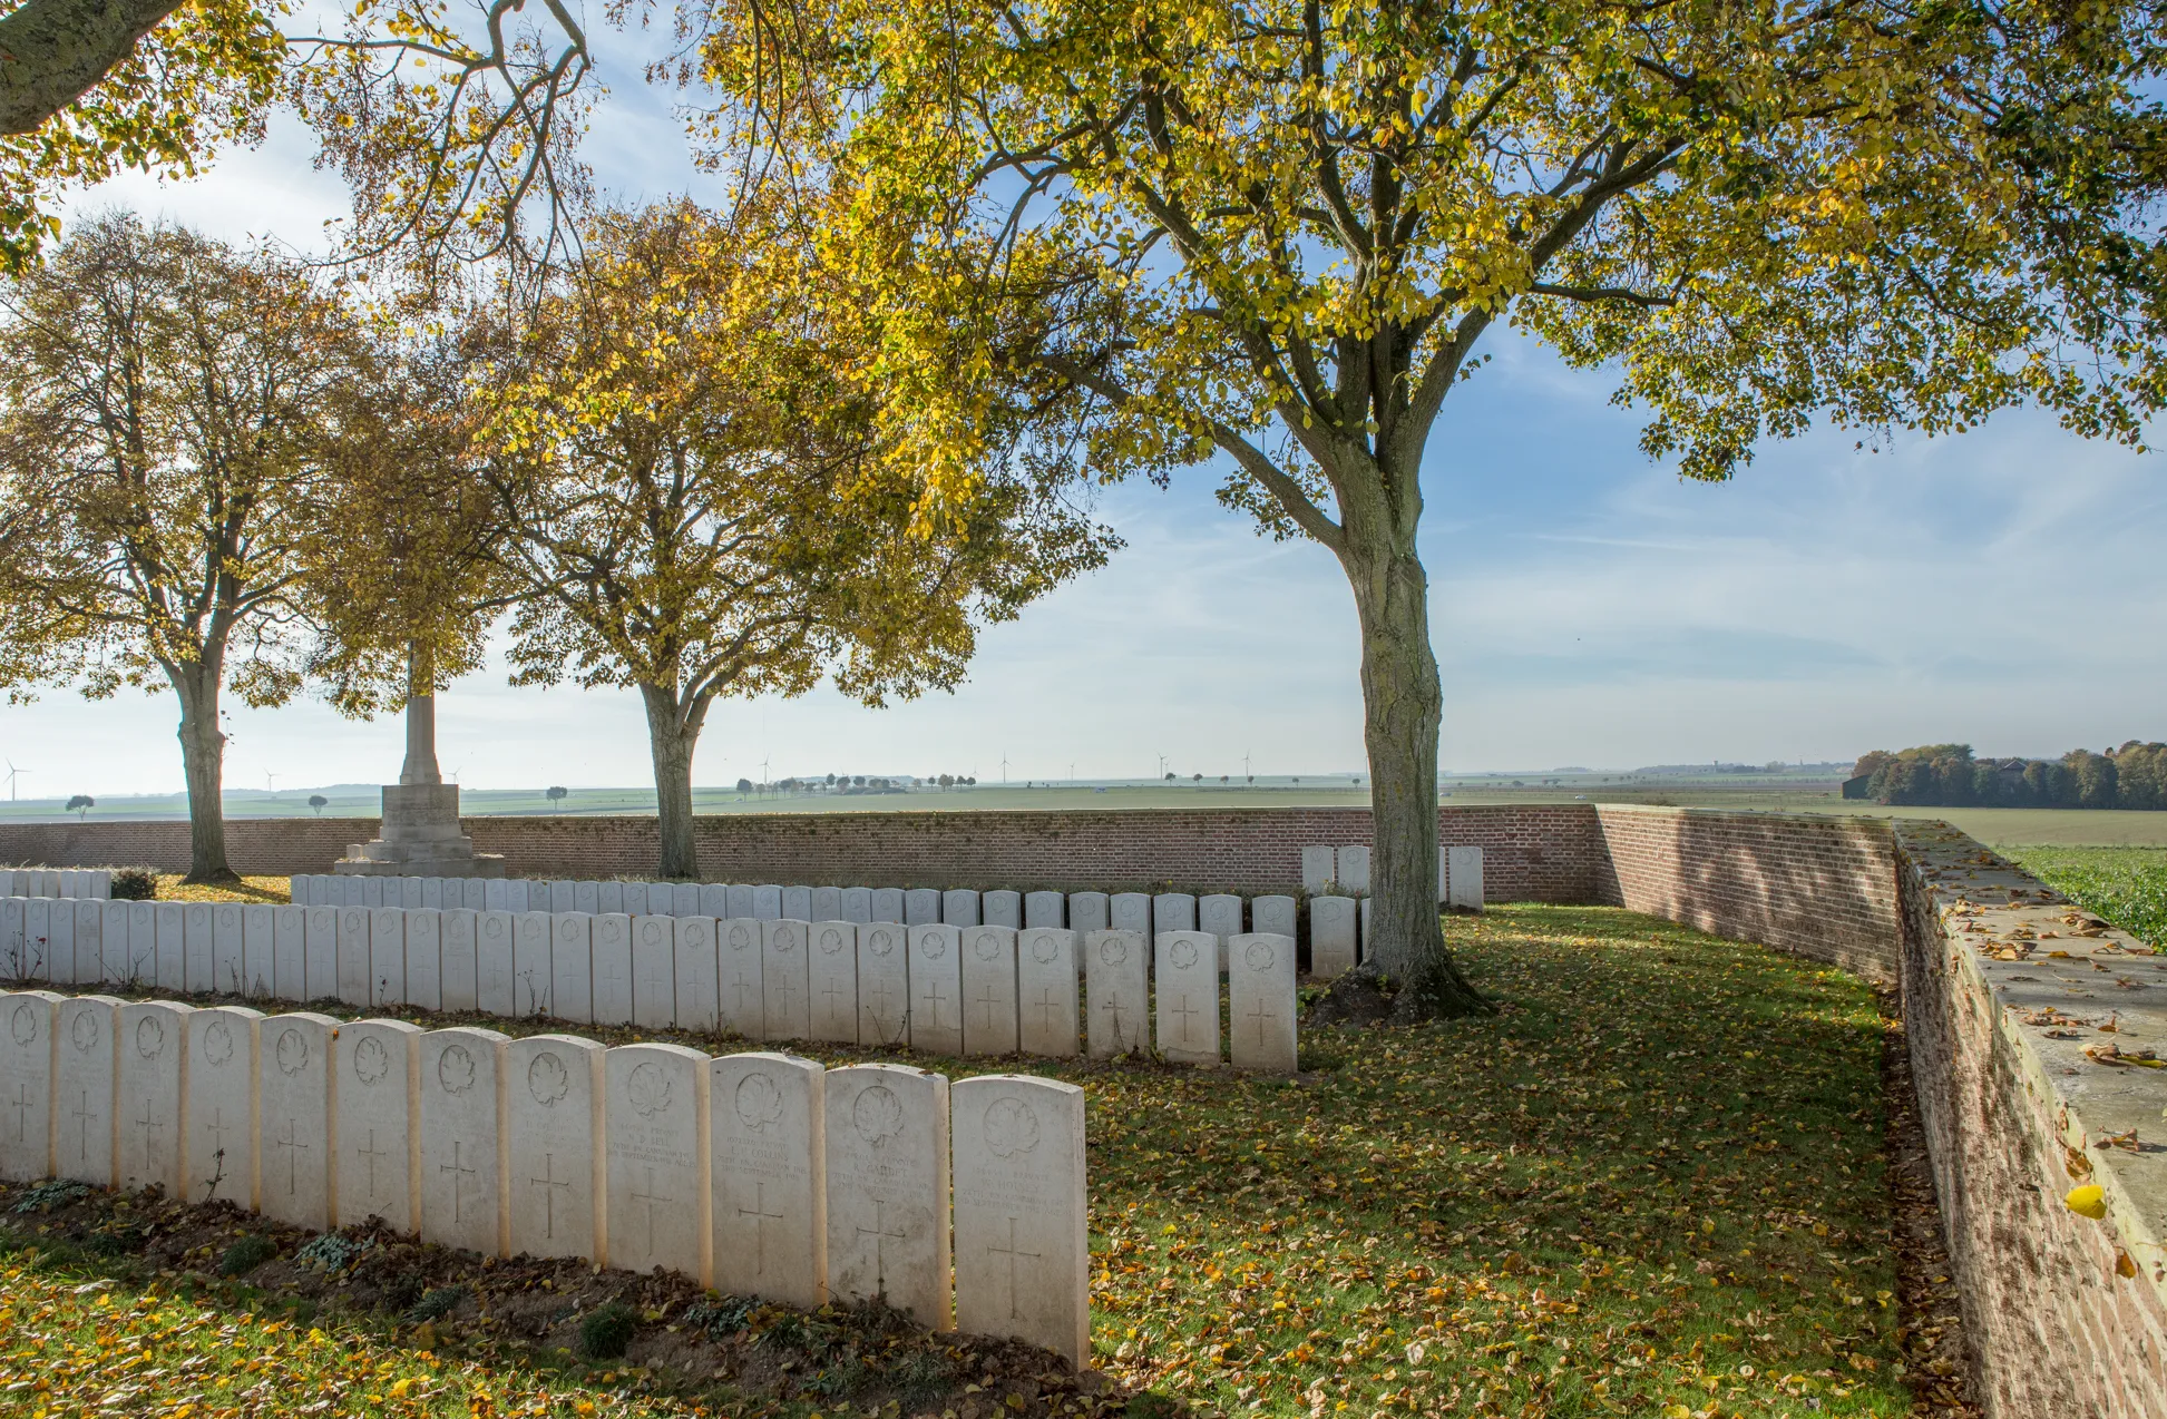
<svg viewBox="0 0 2167 1419"><path fill-rule="evenodd" d="M1352 921L1350 899L1320 901L1344 903ZM1294 936L1233 936L1224 968L1220 947L1207 932L1077 938L1066 927L0 901L0 977L15 981L475 1010L938 1055L1112 1057L1155 1038L1168 1059L1231 1057L1237 1068L1294 1072Z"/></svg>

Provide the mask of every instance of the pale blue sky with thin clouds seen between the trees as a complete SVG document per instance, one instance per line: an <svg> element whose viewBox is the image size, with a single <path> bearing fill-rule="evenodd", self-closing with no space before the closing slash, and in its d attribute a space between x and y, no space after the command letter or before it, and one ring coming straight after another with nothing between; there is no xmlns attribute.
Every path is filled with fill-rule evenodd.
<svg viewBox="0 0 2167 1419"><path fill-rule="evenodd" d="M667 110L635 82L596 115L620 199L691 182ZM319 249L338 184L286 123L206 178L126 178L80 206L134 206L219 236ZM1825 431L1760 448L1725 485L1636 448L1614 379L1510 336L1448 403L1424 466L1424 559L1445 685L1448 769L1851 758L1963 739L2059 754L2167 737L2167 490L2156 455L2033 414L1859 453ZM886 711L832 691L728 702L696 782L804 771L999 778L1324 773L1363 767L1357 626L1337 563L1218 507L1211 470L1103 490L1114 563L990 628L971 682ZM631 695L505 687L440 702L446 771L470 786L648 782ZM171 695L0 708L26 793L180 786ZM232 711L230 786L397 776L399 728L319 702Z"/></svg>

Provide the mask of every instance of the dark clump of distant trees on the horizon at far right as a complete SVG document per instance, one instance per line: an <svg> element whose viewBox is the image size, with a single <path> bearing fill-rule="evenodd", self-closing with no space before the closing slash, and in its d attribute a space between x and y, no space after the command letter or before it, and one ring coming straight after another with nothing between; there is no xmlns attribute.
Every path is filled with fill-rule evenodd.
<svg viewBox="0 0 2167 1419"><path fill-rule="evenodd" d="M2167 743L2132 739L2059 760L1972 758L1968 743L1874 750L1853 767L1844 797L1939 808L2167 808Z"/></svg>

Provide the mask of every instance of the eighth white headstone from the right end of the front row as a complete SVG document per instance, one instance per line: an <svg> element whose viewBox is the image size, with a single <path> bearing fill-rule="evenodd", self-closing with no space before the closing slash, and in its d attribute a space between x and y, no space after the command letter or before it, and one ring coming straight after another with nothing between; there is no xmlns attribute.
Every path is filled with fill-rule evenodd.
<svg viewBox="0 0 2167 1419"><path fill-rule="evenodd" d="M314 1012L256 1025L256 1211L273 1222L332 1226L336 1036L338 1020Z"/></svg>

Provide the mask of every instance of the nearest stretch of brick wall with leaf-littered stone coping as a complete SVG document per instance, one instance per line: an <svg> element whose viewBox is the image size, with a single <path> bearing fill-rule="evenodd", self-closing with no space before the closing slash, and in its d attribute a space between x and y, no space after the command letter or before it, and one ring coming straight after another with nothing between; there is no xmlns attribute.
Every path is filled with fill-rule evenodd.
<svg viewBox="0 0 2167 1419"><path fill-rule="evenodd" d="M2167 960L1946 823L1894 838L1905 1033L1981 1404L2167 1415L2167 1070L2098 1059L2167 1055ZM2080 1185L2098 1218L2065 1200Z"/></svg>

